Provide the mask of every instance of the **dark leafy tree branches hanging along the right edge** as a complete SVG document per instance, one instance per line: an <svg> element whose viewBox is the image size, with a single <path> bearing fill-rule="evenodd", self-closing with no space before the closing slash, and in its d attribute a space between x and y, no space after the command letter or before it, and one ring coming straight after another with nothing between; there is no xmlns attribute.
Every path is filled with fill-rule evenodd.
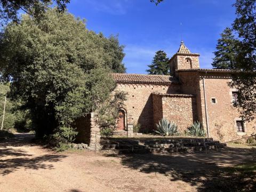
<svg viewBox="0 0 256 192"><path fill-rule="evenodd" d="M235 68L245 73L234 76L231 86L238 89L235 102L245 120L255 118L256 113L256 0L236 0L236 19L233 29L241 40Z"/></svg>

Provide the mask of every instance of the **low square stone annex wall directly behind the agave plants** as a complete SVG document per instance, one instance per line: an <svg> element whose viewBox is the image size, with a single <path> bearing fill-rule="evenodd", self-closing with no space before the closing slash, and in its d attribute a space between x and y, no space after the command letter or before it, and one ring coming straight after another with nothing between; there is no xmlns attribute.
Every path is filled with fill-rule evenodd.
<svg viewBox="0 0 256 192"><path fill-rule="evenodd" d="M197 120L194 95L153 94L153 102L154 124L158 123L161 118L166 118L177 124L179 132L183 133Z"/></svg>

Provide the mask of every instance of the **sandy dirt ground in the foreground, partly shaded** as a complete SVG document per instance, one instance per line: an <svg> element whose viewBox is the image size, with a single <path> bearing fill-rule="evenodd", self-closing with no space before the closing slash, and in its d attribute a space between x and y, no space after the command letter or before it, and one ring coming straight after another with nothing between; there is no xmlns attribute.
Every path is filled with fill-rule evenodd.
<svg viewBox="0 0 256 192"><path fill-rule="evenodd" d="M0 191L253 191L255 177L233 172L250 148L197 154L54 153L17 134L0 142ZM248 189L248 190L246 190Z"/></svg>

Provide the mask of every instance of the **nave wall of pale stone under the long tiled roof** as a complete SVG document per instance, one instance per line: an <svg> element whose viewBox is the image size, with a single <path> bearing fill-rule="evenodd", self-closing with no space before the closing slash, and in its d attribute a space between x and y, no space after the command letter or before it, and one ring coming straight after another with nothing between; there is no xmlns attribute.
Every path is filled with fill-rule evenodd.
<svg viewBox="0 0 256 192"><path fill-rule="evenodd" d="M130 84L118 83L117 90L127 92L123 108L126 110L127 122L141 125L141 129L152 130L153 98L151 93L179 93L179 84Z"/></svg>

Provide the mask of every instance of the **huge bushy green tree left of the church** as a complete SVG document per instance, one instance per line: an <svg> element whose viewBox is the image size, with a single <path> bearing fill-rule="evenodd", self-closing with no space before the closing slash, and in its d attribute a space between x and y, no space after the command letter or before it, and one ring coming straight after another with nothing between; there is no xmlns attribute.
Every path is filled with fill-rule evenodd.
<svg viewBox="0 0 256 192"><path fill-rule="evenodd" d="M76 118L102 115L106 101L122 97L111 97L116 84L110 75L124 70L122 52L117 37L95 34L67 12L49 9L40 20L25 14L1 36L1 79L11 81L10 97L30 109L38 136L69 142Z"/></svg>

